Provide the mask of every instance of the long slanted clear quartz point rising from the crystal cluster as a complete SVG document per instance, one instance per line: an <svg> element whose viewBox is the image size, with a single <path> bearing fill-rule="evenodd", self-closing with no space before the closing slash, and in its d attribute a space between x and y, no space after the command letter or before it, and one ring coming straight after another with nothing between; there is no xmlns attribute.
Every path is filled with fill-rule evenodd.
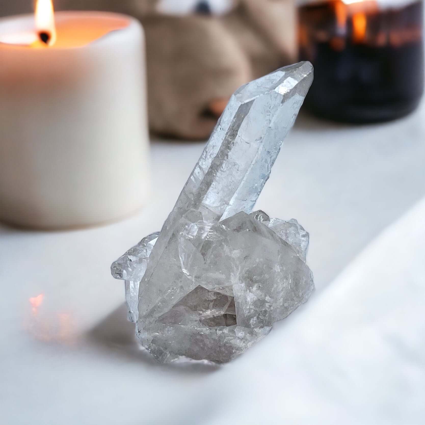
<svg viewBox="0 0 425 425"><path fill-rule="evenodd" d="M187 221L198 221L196 214L204 221L220 221L240 211L251 212L312 80L312 65L300 62L252 81L232 95L147 263L139 292L139 314L147 316L145 320L168 311L193 286L180 276L181 284L170 288L168 272L169 244ZM165 249L168 255L162 258Z"/></svg>

